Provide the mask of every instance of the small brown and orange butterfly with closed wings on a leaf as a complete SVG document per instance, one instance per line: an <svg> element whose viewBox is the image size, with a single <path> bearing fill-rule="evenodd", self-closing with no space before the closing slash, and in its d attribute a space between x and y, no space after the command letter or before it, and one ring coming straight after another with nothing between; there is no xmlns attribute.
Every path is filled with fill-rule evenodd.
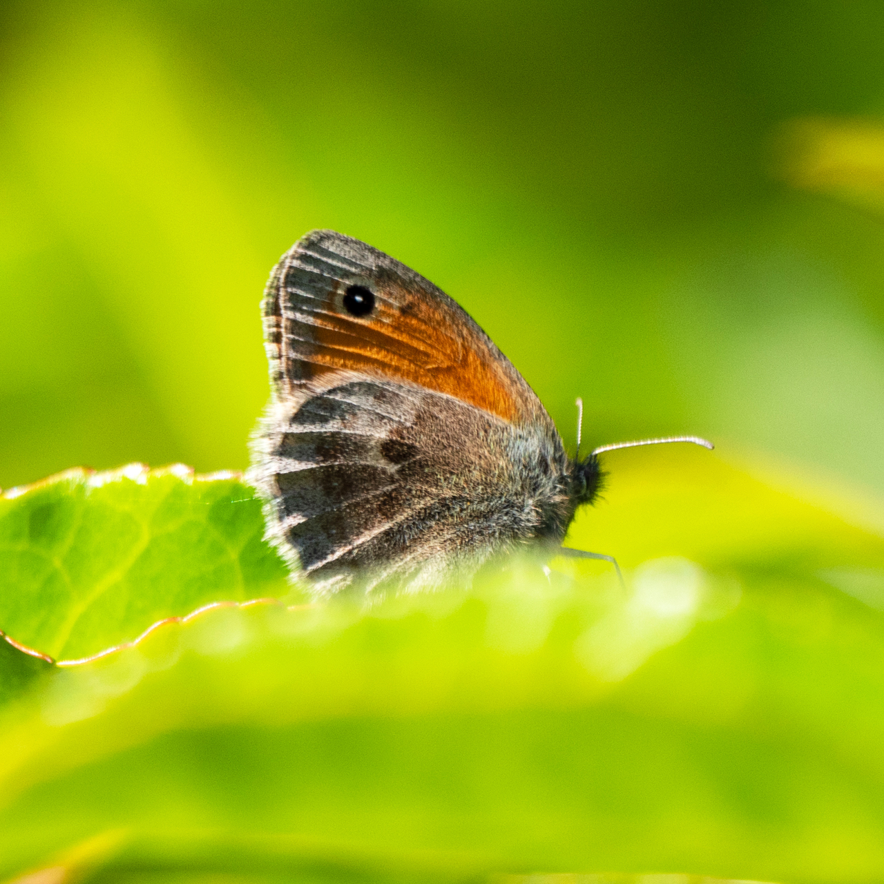
<svg viewBox="0 0 884 884"><path fill-rule="evenodd" d="M389 255L309 232L262 312L271 401L248 476L266 538L316 594L435 588L508 552L559 551L597 497L598 453L619 446L570 458L492 339Z"/></svg>

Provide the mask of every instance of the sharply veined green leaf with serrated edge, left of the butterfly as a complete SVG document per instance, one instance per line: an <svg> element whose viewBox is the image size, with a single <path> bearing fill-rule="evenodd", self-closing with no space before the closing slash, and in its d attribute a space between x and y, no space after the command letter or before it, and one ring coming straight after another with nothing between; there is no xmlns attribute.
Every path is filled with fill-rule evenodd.
<svg viewBox="0 0 884 884"><path fill-rule="evenodd" d="M73 469L0 497L0 628L56 659L219 600L291 591L235 474Z"/></svg>

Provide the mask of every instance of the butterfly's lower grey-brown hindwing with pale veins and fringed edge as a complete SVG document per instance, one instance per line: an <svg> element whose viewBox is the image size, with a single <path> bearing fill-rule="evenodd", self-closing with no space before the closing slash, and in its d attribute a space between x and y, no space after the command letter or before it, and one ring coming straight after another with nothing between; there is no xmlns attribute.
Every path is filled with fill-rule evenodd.
<svg viewBox="0 0 884 884"><path fill-rule="evenodd" d="M278 404L260 446L269 536L328 591L438 580L534 536L558 493L552 446L415 385L342 378Z"/></svg>

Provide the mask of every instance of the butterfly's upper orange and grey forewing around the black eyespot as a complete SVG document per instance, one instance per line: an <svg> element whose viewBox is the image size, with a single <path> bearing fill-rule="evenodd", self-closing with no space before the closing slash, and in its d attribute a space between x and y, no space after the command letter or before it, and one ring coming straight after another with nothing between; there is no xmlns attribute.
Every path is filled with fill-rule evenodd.
<svg viewBox="0 0 884 884"><path fill-rule="evenodd" d="M352 285L375 294L366 316L344 307ZM455 301L358 240L328 231L299 240L271 276L264 317L279 385L348 370L446 393L510 423L552 427L530 386Z"/></svg>

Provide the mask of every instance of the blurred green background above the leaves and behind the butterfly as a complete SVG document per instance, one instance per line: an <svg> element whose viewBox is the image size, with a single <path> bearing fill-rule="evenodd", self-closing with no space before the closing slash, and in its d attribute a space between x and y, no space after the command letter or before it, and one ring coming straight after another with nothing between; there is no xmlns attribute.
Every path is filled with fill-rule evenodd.
<svg viewBox="0 0 884 884"><path fill-rule="evenodd" d="M461 301L568 443L582 395L593 444L884 492L880 4L0 17L0 485L244 467L263 282L327 226Z"/></svg>

